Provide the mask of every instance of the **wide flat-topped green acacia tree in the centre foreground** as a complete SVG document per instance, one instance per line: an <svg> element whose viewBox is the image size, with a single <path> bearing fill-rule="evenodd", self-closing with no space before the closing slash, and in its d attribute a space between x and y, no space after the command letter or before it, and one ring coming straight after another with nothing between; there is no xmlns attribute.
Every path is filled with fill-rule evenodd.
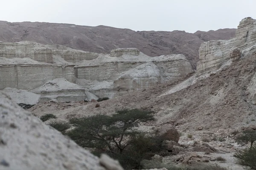
<svg viewBox="0 0 256 170"><path fill-rule="evenodd" d="M139 109L125 109L117 111L111 116L95 115L90 117L71 119L75 126L67 135L82 147L97 148L114 152L117 147L119 153L131 143L131 138L140 133L134 127L142 122L154 120L152 111Z"/></svg>

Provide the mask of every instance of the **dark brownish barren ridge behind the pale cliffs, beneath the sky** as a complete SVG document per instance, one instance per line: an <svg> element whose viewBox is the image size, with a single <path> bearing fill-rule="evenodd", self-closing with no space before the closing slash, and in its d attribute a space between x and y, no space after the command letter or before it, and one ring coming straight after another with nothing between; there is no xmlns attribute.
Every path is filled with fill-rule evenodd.
<svg viewBox="0 0 256 170"><path fill-rule="evenodd" d="M236 29L217 31L133 31L108 26L76 26L57 23L9 23L0 21L0 41L24 40L41 44L60 44L94 53L110 53L116 48L138 48L150 57L168 54L185 55L195 69L198 48L209 40L228 40Z"/></svg>

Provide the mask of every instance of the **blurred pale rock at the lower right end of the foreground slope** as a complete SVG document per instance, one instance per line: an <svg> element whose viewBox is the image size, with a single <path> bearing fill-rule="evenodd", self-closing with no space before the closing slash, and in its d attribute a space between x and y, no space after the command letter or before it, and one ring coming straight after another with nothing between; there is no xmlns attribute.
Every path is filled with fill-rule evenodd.
<svg viewBox="0 0 256 170"><path fill-rule="evenodd" d="M119 164L119 161L113 160L106 154L102 154L99 163L106 168L106 170L124 170Z"/></svg>

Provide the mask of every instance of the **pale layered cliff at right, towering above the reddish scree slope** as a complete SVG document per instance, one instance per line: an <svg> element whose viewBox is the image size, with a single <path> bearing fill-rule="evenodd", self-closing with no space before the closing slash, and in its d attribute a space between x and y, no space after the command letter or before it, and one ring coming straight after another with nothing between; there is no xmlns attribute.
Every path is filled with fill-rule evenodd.
<svg viewBox="0 0 256 170"><path fill-rule="evenodd" d="M235 51L234 51L235 50ZM220 70L239 57L256 53L256 20L244 18L230 40L213 40L199 48L198 74Z"/></svg>

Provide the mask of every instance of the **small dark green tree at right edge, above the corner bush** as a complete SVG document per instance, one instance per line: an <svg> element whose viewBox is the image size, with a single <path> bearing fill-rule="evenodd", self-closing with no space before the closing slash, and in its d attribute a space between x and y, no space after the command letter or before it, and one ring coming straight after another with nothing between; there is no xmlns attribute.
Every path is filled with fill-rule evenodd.
<svg viewBox="0 0 256 170"><path fill-rule="evenodd" d="M250 142L250 149L253 147L253 143L256 141L256 130L244 130L243 133L236 138L238 143Z"/></svg>

